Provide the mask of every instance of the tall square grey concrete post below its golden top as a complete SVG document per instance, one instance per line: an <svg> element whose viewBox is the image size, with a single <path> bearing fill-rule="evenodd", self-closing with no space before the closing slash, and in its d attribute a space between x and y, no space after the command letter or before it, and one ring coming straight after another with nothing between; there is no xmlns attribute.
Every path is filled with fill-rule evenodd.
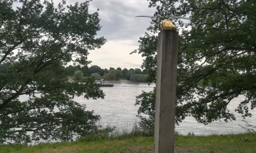
<svg viewBox="0 0 256 153"><path fill-rule="evenodd" d="M158 34L154 152L174 152L178 32Z"/></svg>

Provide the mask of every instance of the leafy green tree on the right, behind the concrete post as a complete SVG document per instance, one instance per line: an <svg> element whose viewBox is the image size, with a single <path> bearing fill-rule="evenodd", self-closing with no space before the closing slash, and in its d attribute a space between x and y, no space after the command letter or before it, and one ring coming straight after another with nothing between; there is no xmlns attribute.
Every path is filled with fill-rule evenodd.
<svg viewBox="0 0 256 153"><path fill-rule="evenodd" d="M256 6L253 3L150 0L150 7L157 8L157 12L148 28L150 32L139 39L139 48L133 53L145 57L142 68L148 70L152 82L156 79L158 23L167 16L190 18L190 22L173 20L182 31L178 53L177 124L186 116L193 116L204 124L220 119L234 120L236 117L227 105L239 95L246 98L236 111L243 117L251 116L249 110L256 107ZM139 101L153 99L147 95L137 98ZM151 101L151 105L153 103L155 101ZM140 110L151 107L137 104Z"/></svg>

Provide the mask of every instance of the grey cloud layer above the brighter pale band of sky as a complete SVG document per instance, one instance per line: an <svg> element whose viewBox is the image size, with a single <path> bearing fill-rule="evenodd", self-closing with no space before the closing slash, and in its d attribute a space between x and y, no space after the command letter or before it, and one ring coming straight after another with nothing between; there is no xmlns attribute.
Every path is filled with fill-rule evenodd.
<svg viewBox="0 0 256 153"><path fill-rule="evenodd" d="M150 25L150 19L137 18L137 15L153 15L155 10L147 8L147 2L94 0L91 6L100 9L102 30L99 35L108 40L131 39L137 42Z"/></svg>

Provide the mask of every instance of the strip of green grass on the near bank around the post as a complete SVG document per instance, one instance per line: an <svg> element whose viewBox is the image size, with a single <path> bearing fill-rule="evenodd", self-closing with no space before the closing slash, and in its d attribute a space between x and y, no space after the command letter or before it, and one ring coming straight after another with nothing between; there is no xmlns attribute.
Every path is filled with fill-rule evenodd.
<svg viewBox="0 0 256 153"><path fill-rule="evenodd" d="M256 152L256 134L176 136L175 152ZM80 139L36 146L4 145L0 152L152 152L153 137Z"/></svg>

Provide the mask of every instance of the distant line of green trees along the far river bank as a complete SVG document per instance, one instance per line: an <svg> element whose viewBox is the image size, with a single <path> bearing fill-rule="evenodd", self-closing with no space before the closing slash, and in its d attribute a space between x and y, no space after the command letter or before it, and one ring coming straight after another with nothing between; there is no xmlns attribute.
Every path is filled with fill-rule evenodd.
<svg viewBox="0 0 256 153"><path fill-rule="evenodd" d="M147 70L141 70L140 68L127 68L117 69L110 67L109 69L102 69L97 65L91 67L84 66L72 66L69 65L66 68L68 75L74 76L75 80L79 80L82 77L94 77L96 80L104 79L106 81L118 81L120 79L129 80L131 82L147 82Z"/></svg>

